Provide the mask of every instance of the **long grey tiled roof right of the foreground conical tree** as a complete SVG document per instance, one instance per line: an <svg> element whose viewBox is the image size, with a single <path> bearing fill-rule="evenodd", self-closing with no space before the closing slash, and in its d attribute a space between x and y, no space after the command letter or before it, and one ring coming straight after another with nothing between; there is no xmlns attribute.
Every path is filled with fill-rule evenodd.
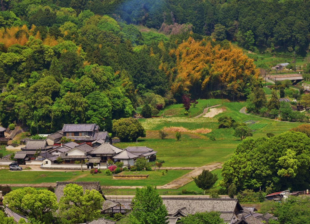
<svg viewBox="0 0 310 224"><path fill-rule="evenodd" d="M188 214L197 212L218 211L224 221L230 221L235 210L242 210L237 199L215 198L162 198L169 215L175 214L179 209L186 208Z"/></svg>

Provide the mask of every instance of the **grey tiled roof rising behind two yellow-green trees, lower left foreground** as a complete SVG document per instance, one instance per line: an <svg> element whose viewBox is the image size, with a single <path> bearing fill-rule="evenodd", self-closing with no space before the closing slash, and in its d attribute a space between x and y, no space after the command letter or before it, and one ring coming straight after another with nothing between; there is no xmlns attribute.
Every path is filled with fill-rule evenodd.
<svg viewBox="0 0 310 224"><path fill-rule="evenodd" d="M85 190L98 190L102 194L102 190L100 188L100 183L98 182L56 182L55 195L57 198L57 202L59 202L60 198L64 195L64 187L67 184L77 184L83 187L83 192ZM103 196L104 197L104 196Z"/></svg>

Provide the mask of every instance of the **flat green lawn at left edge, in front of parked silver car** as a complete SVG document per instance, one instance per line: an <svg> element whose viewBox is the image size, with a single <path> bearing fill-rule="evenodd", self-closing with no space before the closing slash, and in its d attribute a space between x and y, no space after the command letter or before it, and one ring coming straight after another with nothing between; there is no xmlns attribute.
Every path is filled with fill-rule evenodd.
<svg viewBox="0 0 310 224"><path fill-rule="evenodd" d="M76 175L73 175L75 173ZM84 172L85 173L85 172ZM46 177L40 175L45 174ZM82 175L80 171L76 172L52 172L52 171L9 171L0 170L0 184L38 184L51 183L56 181L69 181Z"/></svg>

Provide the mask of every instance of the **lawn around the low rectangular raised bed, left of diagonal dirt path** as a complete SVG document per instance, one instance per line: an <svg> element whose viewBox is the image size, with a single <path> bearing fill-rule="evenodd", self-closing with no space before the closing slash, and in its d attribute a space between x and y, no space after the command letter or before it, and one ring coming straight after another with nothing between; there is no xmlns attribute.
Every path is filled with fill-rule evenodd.
<svg viewBox="0 0 310 224"><path fill-rule="evenodd" d="M145 186L148 184L162 186L190 171L191 170L169 170L167 173L165 172L165 175L162 175L162 172L144 171L140 172L140 174L148 174L148 178L137 180L113 179L113 176L106 176L104 173L99 173L95 175L89 174L75 181L100 181L102 186ZM130 175L131 172L126 173Z"/></svg>

